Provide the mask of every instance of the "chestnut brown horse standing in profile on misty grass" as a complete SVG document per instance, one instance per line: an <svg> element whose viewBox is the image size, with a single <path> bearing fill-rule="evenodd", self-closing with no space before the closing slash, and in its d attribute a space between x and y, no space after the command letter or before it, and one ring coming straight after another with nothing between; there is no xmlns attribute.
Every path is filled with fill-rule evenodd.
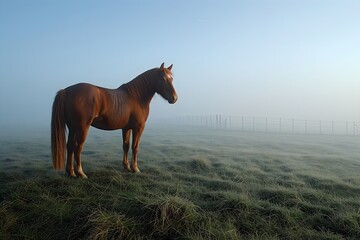
<svg viewBox="0 0 360 240"><path fill-rule="evenodd" d="M51 150L54 168L64 169L70 177L87 178L81 165L81 150L89 127L103 130L122 129L123 166L140 172L137 164L139 141L155 93L169 103L177 100L173 87L172 65L150 69L117 89L79 83L60 90L55 97L51 118ZM69 130L66 143L65 125ZM132 132L131 169L128 162ZM74 164L75 157L75 164Z"/></svg>

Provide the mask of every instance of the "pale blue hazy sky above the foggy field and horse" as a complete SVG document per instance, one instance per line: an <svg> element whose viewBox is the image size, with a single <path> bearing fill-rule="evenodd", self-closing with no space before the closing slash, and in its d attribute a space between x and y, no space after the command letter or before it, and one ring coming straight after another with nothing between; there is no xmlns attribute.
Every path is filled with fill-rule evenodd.
<svg viewBox="0 0 360 240"><path fill-rule="evenodd" d="M360 120L360 1L0 0L0 125L50 122L55 93L174 64L157 116ZM150 118L150 119L151 119Z"/></svg>

